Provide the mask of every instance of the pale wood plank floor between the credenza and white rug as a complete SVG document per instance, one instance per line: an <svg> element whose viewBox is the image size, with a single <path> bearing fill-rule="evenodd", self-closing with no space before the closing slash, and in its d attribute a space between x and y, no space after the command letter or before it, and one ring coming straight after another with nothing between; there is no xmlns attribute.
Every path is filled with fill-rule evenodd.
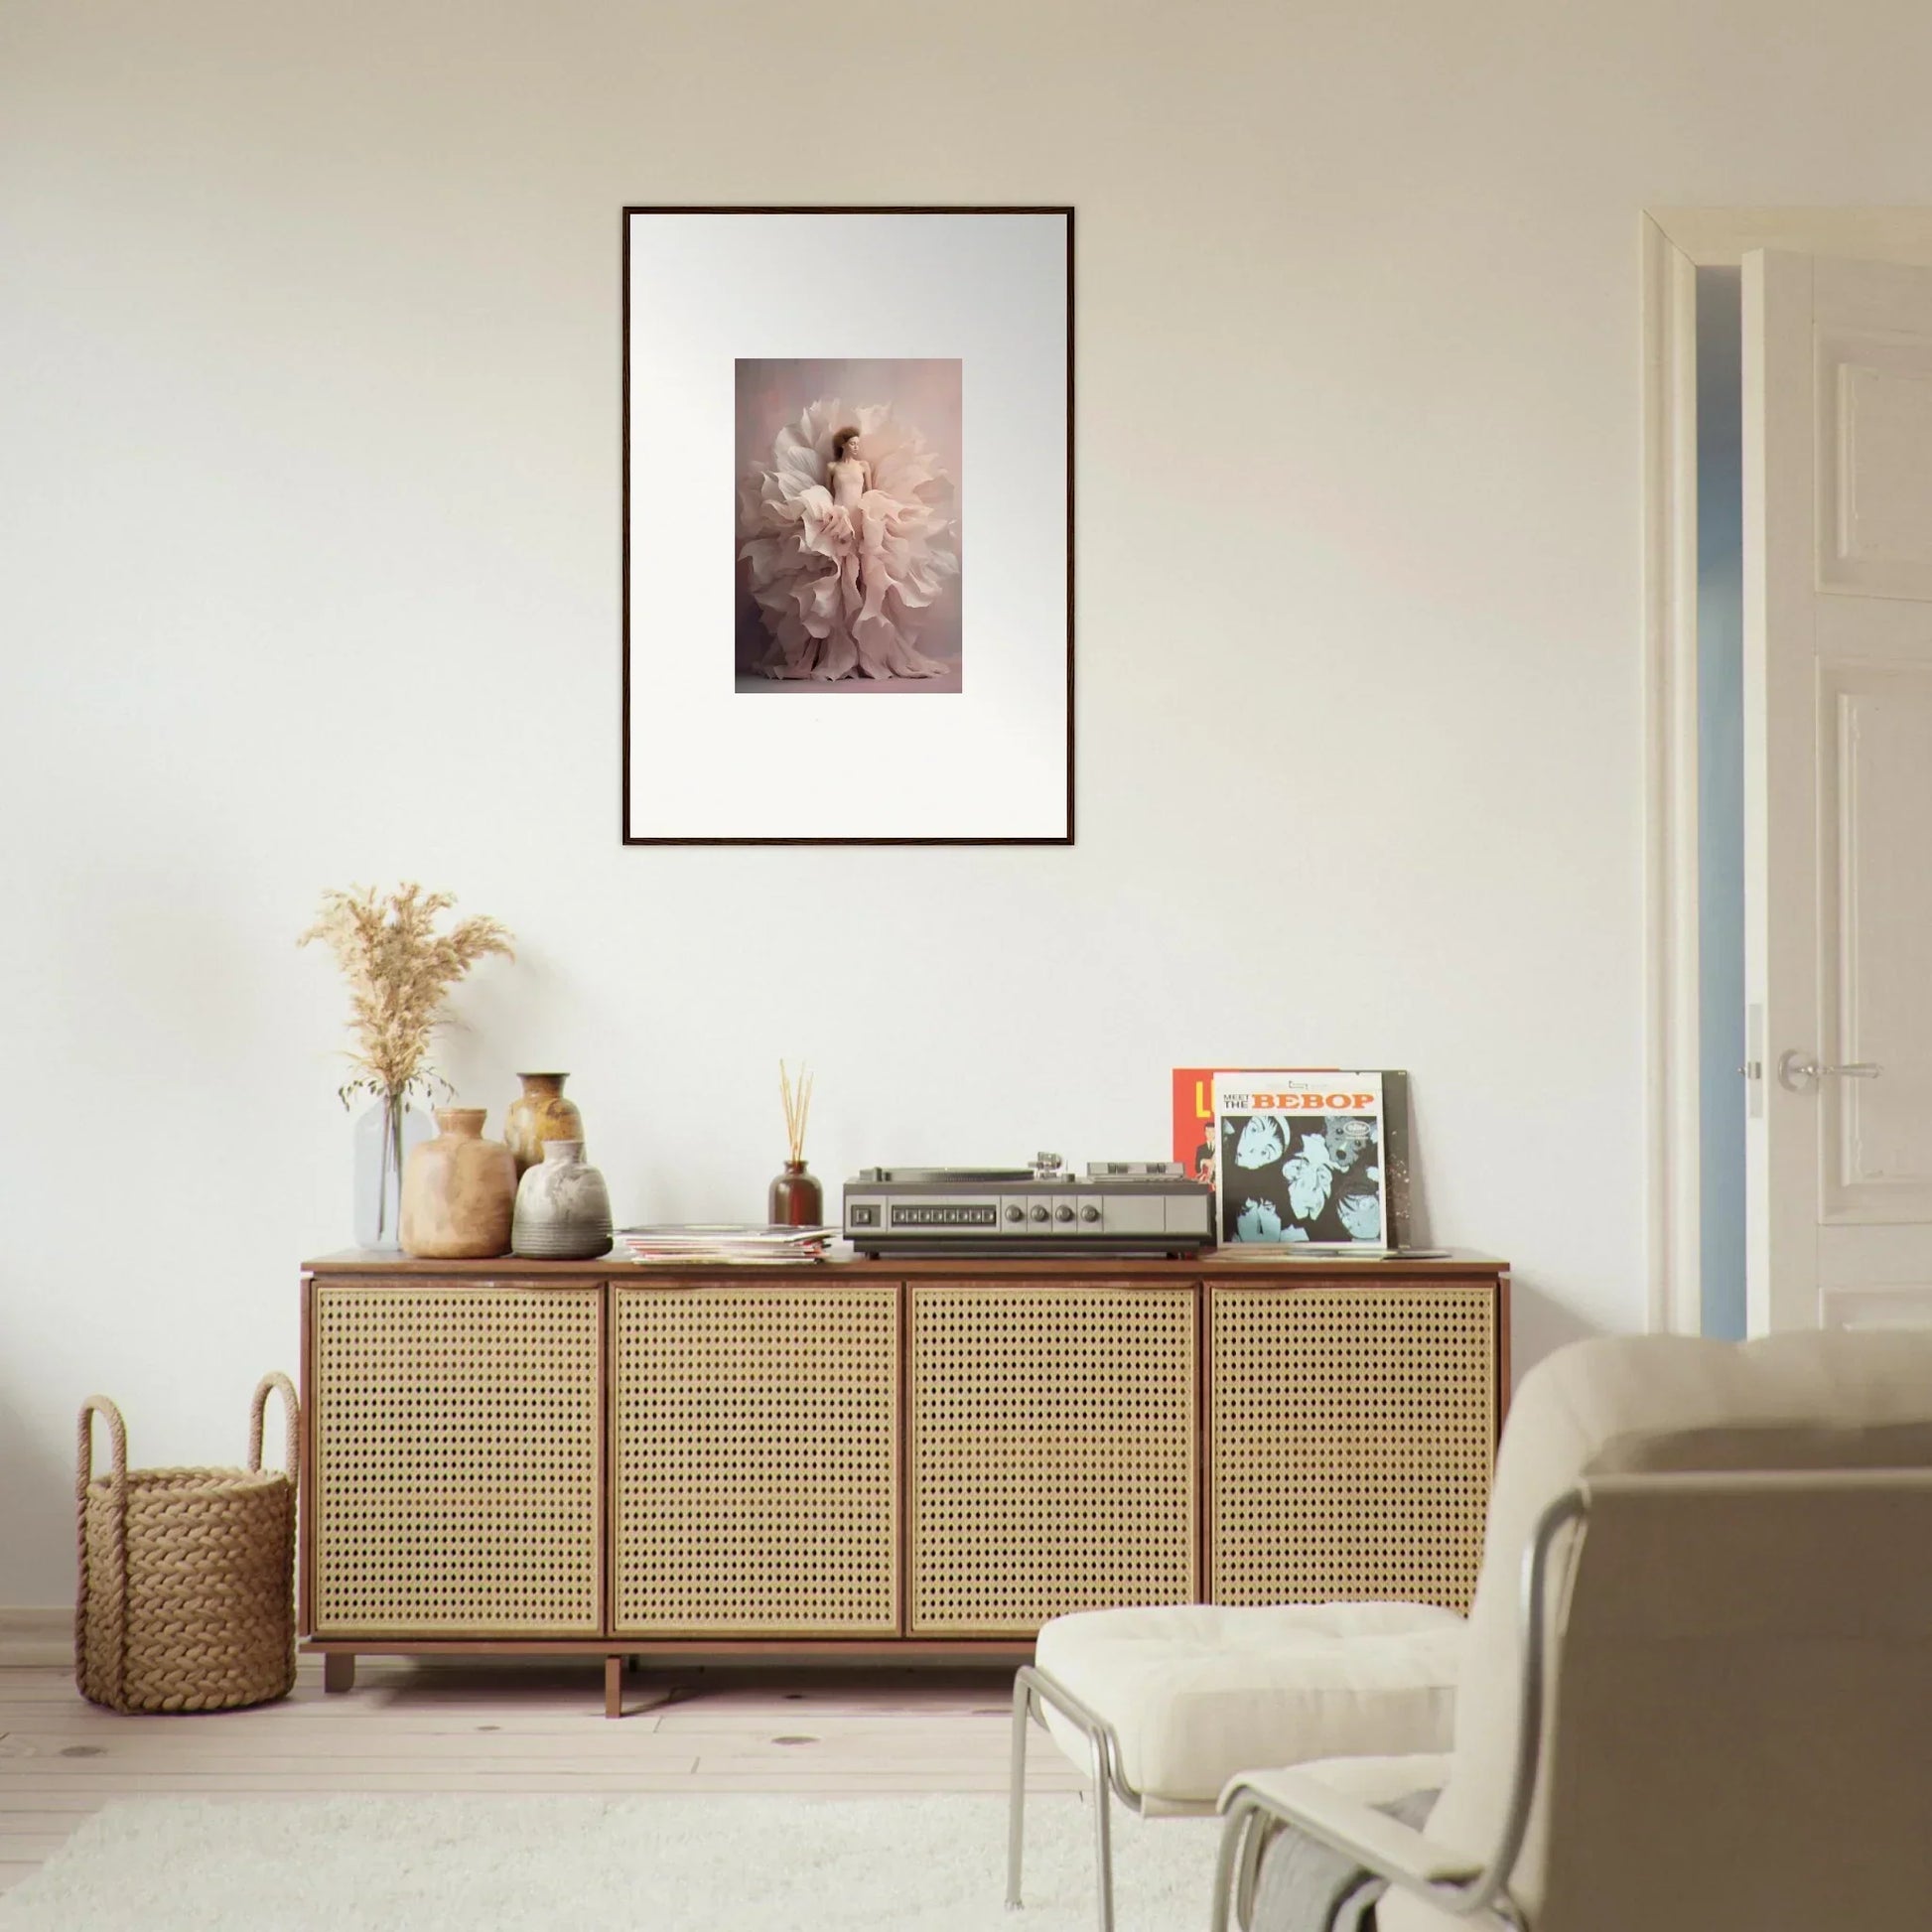
<svg viewBox="0 0 1932 1932"><path fill-rule="evenodd" d="M634 1671L361 1660L348 1696L303 1658L255 1710L122 1718L64 1669L0 1669L0 1889L120 1797L406 1791L1005 1791L1010 1669ZM1036 1729L1030 1789L1080 1776Z"/></svg>

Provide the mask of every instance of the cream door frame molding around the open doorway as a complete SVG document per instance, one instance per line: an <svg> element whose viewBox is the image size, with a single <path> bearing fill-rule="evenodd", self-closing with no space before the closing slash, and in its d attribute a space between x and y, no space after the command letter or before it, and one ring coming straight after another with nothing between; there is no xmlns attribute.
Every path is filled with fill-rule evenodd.
<svg viewBox="0 0 1932 1932"><path fill-rule="evenodd" d="M1932 267L1932 207L1646 209L1640 238L1648 1327L1696 1335L1696 270L1735 269L1758 247Z"/></svg>

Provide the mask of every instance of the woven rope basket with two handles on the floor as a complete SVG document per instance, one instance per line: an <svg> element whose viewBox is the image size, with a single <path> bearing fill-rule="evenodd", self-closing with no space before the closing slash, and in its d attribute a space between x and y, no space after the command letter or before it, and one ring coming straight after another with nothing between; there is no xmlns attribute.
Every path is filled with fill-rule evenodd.
<svg viewBox="0 0 1932 1932"><path fill-rule="evenodd" d="M282 1391L288 1468L261 1466L269 1391ZM93 1418L114 1468L95 1474ZM128 1468L128 1428L81 1405L81 1577L73 1681L112 1710L234 1710L296 1683L296 1389L263 1376L247 1468Z"/></svg>

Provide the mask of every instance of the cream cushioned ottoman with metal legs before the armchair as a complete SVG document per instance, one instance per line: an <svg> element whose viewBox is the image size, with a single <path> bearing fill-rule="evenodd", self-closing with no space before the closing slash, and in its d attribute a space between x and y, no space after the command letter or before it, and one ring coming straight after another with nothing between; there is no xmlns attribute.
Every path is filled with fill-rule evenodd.
<svg viewBox="0 0 1932 1932"><path fill-rule="evenodd" d="M1430 1604L1175 1604L1043 1625L1012 1685L1007 1905L1020 1903L1026 1727L1094 1777L1099 1926L1113 1928L1107 1793L1211 1812L1256 1766L1449 1748L1464 1623Z"/></svg>

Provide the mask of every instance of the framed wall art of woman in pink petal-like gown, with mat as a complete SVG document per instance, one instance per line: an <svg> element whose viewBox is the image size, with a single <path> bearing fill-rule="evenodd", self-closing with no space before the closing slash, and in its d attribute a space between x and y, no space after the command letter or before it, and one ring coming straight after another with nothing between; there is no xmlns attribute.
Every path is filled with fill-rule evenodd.
<svg viewBox="0 0 1932 1932"><path fill-rule="evenodd" d="M624 842L1070 844L1072 209L624 211Z"/></svg>

